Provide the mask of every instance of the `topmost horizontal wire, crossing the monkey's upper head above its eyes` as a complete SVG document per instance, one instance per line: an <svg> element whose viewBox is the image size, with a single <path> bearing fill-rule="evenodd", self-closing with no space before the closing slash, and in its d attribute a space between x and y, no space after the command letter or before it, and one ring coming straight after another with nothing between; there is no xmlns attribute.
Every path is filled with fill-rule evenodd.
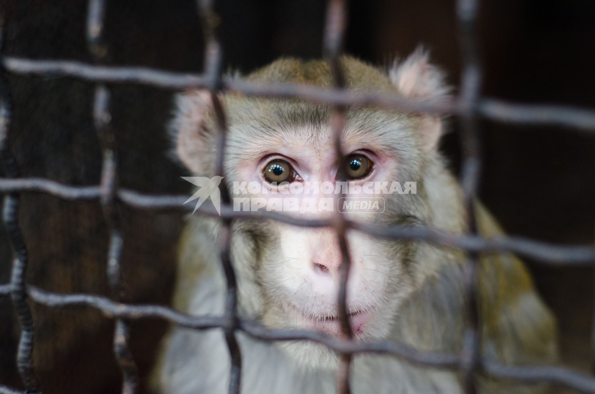
<svg viewBox="0 0 595 394"><path fill-rule="evenodd" d="M190 89L211 86L211 78L190 73L155 70L146 67L107 67L65 60L29 60L5 57L4 67L15 74L63 76L88 82L134 83L166 89ZM416 101L403 96L380 92L353 92L300 84L273 83L260 85L225 77L223 89L249 96L300 98L333 105L374 105L383 108L460 114L458 101L433 103ZM478 113L489 120L534 125L571 127L583 132L595 132L595 110L552 104L522 104L494 98L479 100Z"/></svg>

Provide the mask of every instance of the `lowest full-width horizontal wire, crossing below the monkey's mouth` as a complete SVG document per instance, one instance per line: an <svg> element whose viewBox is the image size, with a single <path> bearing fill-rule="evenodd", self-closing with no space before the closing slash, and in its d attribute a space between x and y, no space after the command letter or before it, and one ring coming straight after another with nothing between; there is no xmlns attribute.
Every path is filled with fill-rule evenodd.
<svg viewBox="0 0 595 394"><path fill-rule="evenodd" d="M8 290L7 290L8 288ZM10 284L0 285L0 296L10 293ZM27 286L27 293L37 304L50 308L91 307L98 309L108 318L128 318L133 320L145 318L162 318L171 323L195 330L224 329L228 319L221 316L192 316L177 312L160 305L132 305L111 301L99 295L59 294L41 290L35 286ZM259 340L293 341L310 340L328 346L339 353L352 354L385 354L406 360L412 364L440 369L456 370L461 367L461 358L456 354L419 351L405 343L378 340L359 342L342 340L328 334L311 330L269 329L252 320L240 319L239 327L250 337ZM586 374L555 366L504 365L500 362L482 358L480 370L497 379L511 379L519 382L551 382L582 392L595 393L595 378ZM4 390L4 391L2 391ZM22 393L10 391L10 387L0 386L0 393Z"/></svg>

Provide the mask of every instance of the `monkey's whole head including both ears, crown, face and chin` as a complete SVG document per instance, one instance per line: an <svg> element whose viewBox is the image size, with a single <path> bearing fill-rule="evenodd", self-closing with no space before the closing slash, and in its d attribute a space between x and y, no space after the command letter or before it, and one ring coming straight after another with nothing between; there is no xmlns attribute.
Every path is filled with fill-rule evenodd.
<svg viewBox="0 0 595 394"><path fill-rule="evenodd" d="M349 89L386 90L418 98L447 91L441 85L441 73L422 52L388 75L353 58L342 62ZM321 61L280 60L247 79L333 83L330 66ZM172 124L178 157L201 176L214 175L218 127L209 97L201 91L180 95ZM222 99L228 124L224 182L231 190L234 209L315 219L330 218L339 210L372 226L411 224L431 215L424 171L427 162L437 158L438 118L350 108L341 136L345 156L337 161L330 107L233 94ZM352 205L337 199L342 187L337 187L339 168L349 180L346 197ZM408 182L416 183L415 190L406 191ZM398 187L393 189L393 184ZM362 209L362 201L371 204L366 205L369 209ZM347 232L347 244L351 263L347 312L355 338L387 336L399 305L423 279L423 262L414 258L416 244L373 239L355 230ZM239 220L234 223L232 253L240 305L249 315L269 327L340 333L337 293L343 258L333 229ZM321 345L280 346L303 364L333 364L334 356Z"/></svg>

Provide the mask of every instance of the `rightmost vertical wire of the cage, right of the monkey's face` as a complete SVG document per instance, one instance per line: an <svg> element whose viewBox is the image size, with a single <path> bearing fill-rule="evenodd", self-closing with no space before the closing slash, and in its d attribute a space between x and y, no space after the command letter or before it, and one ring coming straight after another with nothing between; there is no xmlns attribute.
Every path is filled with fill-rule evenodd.
<svg viewBox="0 0 595 394"><path fill-rule="evenodd" d="M477 45L478 0L458 0L456 16L463 71L461 94L461 144L463 164L461 184L468 214L469 233L477 234L475 223L475 197L481 173L481 141L478 127L478 102L481 92L481 65ZM467 394L477 393L477 369L481 355L481 327L478 311L478 253L469 252L464 269L465 332L461 355L464 371L464 389Z"/></svg>

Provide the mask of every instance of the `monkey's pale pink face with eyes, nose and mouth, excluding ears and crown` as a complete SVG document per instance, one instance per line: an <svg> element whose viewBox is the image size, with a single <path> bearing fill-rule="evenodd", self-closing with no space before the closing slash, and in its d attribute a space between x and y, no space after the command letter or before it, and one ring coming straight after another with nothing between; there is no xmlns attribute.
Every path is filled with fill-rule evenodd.
<svg viewBox="0 0 595 394"><path fill-rule="evenodd" d="M415 174L421 171L422 161L412 154L420 149L409 130L412 121L378 112L377 121L368 121L365 128L350 126L364 114L368 115L350 115L341 162L335 160L333 133L324 122L316 127L288 125L276 137L270 132L259 141L258 149L242 142L241 154L236 151L227 163L233 199L242 203L236 208L270 209L313 219L330 218L339 209L352 220L382 226L422 215L421 185L415 190L419 195L388 193L390 185L416 182ZM372 136L370 130L375 126L377 134ZM381 137L384 128L392 131L389 138ZM245 134L233 126L230 133L234 140ZM396 140L395 136L400 137ZM399 154L397 147L409 154ZM337 183L339 165L344 166L349 182L346 201L378 201L377 209L345 208L345 199L335 194L341 185ZM242 183L245 187L239 186ZM293 201L294 209L287 200ZM250 315L269 327L340 334L337 294L344 261L334 229L250 220L238 222L234 236L234 263L243 286L240 302ZM347 312L352 332L355 339L386 337L399 305L415 287L417 268L411 262L415 244L378 240L349 230L347 245ZM328 365L334 359L312 343L281 346L306 365Z"/></svg>

